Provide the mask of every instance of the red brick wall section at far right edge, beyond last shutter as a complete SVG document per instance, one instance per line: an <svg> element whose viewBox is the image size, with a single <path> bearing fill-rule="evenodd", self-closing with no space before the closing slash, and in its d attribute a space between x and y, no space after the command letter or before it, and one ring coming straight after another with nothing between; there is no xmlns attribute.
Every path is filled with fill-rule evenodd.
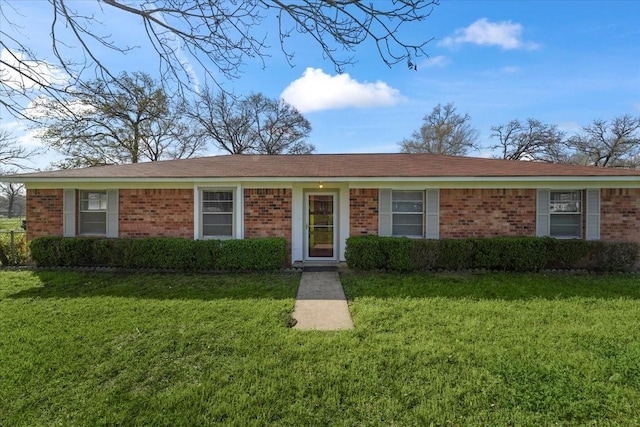
<svg viewBox="0 0 640 427"><path fill-rule="evenodd" d="M640 188L600 191L600 239L640 242Z"/></svg>

